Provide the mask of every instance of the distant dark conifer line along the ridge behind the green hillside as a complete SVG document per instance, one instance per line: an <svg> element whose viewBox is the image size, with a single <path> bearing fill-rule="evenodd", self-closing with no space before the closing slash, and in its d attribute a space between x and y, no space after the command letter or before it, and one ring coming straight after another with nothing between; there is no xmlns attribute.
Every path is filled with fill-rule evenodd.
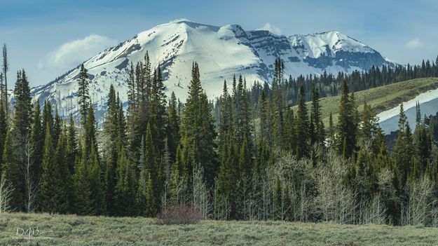
<svg viewBox="0 0 438 246"><path fill-rule="evenodd" d="M289 76L282 84L282 93L287 104L292 106L298 104L300 87L304 86L306 101L311 97L311 86L314 83L318 89L320 97L330 97L341 93L342 83L345 80L348 88L351 92L357 92L360 90L368 90L370 88L376 88L378 86L386 86L391 83L397 83L400 81L407 81L414 78L427 78L438 76L438 56L433 62L430 60L423 60L420 65L407 64L401 65L383 65L382 67L372 66L368 71L353 71L351 74L345 74L339 72L338 74L327 74L324 71L322 74L306 76L300 75L296 78ZM264 91L265 96L271 101L273 99L273 88L269 86L269 83L260 83L254 81L252 87L247 91L249 104L252 105L254 114L259 117L259 99L261 91ZM219 122L219 104L220 100L217 100L214 104L214 116Z"/></svg>

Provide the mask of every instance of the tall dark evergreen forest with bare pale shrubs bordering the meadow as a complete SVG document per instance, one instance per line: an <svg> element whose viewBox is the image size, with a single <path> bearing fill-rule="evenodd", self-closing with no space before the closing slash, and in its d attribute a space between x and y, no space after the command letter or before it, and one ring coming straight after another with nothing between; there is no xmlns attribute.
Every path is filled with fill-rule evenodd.
<svg viewBox="0 0 438 246"><path fill-rule="evenodd" d="M357 110L347 79L336 125L322 123L315 81L310 110L301 83L292 111L277 59L272 99L262 90L255 112L245 78L235 76L231 88L224 81L215 124L199 65L182 104L167 98L146 53L130 64L126 111L110 87L100 130L80 70L79 125L48 101L32 102L24 70L10 120L0 100L0 211L155 217L186 204L210 219L438 224L435 116L418 117L412 131L400 107L388 153L374 110Z"/></svg>

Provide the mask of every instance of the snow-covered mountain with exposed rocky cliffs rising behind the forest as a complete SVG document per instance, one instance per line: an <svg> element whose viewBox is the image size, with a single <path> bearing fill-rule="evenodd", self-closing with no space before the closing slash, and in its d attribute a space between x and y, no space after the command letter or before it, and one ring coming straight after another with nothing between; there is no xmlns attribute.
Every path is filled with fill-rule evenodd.
<svg viewBox="0 0 438 246"><path fill-rule="evenodd" d="M158 25L85 61L90 97L97 114L104 113L112 83L126 102L128 67L144 59L149 50L152 67L163 69L167 92L186 99L193 61L200 64L203 88L210 98L221 93L224 79L245 76L248 84L271 81L273 63L281 57L286 76L350 73L383 64L395 65L376 50L341 34L282 36L268 31L245 31L240 25L215 27L186 20ZM34 97L57 102L61 114L77 114L78 67L45 86L33 88ZM99 117L99 115L97 116Z"/></svg>

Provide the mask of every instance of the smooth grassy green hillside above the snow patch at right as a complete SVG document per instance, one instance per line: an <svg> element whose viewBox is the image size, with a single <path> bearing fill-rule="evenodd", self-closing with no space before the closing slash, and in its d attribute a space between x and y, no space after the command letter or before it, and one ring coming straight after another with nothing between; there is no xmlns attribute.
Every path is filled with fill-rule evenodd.
<svg viewBox="0 0 438 246"><path fill-rule="evenodd" d="M371 104L376 110L376 113L396 107L401 102L409 101L415 98L418 94L424 93L427 90L438 88L438 78L416 78L409 81L392 83L388 86L381 86L369 90L362 90L355 93L356 104L359 111L364 108L364 100ZM324 97L320 100L322 107L322 121L327 127L329 124L330 112L333 114L334 123L338 120L338 106L340 96ZM310 107L310 102L308 102ZM296 111L296 106L293 107Z"/></svg>

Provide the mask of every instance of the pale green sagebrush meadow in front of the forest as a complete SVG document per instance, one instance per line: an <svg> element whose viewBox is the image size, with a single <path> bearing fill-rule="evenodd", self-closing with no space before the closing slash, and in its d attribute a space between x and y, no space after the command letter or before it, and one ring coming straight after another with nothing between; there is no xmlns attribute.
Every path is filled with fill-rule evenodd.
<svg viewBox="0 0 438 246"><path fill-rule="evenodd" d="M31 236L29 236L31 228ZM37 229L36 229L37 228ZM16 235L17 231L21 234ZM34 235L32 235L32 233ZM438 228L281 221L201 221L0 214L0 245L437 245Z"/></svg>

